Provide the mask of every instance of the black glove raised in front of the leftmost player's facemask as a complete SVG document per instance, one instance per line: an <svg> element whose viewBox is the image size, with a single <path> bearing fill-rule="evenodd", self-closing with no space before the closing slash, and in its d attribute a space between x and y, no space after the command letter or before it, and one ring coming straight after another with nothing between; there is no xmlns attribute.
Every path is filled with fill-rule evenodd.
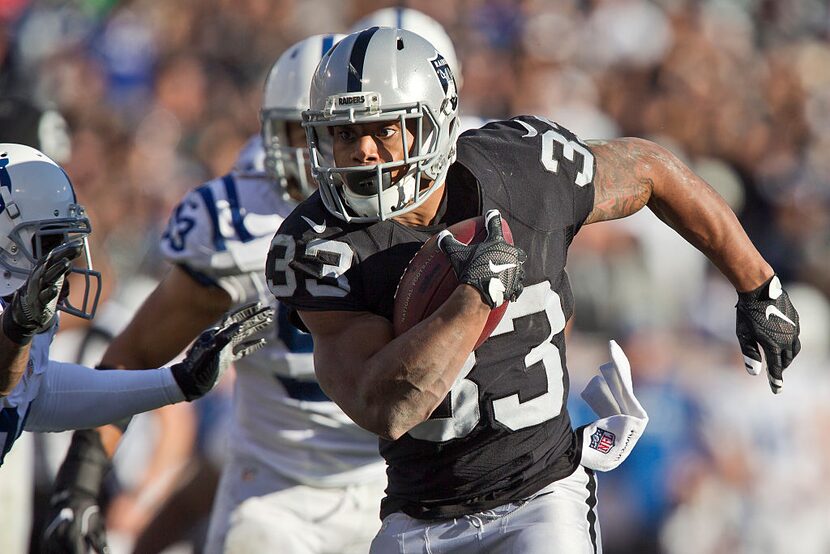
<svg viewBox="0 0 830 554"><path fill-rule="evenodd" d="M34 335L49 328L58 310L63 281L72 260L81 255L84 243L73 240L41 257L29 278L3 312L3 332L17 344L28 344Z"/></svg>

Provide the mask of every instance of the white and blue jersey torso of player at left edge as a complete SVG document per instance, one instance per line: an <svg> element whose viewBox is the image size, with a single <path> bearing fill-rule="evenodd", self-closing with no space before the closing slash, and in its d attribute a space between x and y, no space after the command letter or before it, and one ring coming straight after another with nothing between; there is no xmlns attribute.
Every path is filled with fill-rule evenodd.
<svg viewBox="0 0 830 554"><path fill-rule="evenodd" d="M6 304L0 300L0 313ZM49 366L49 346L57 331L57 323L35 335L29 350L29 363L26 371L11 394L0 398L0 464L6 453L11 450L14 441L23 432L29 408L40 392L43 375Z"/></svg>

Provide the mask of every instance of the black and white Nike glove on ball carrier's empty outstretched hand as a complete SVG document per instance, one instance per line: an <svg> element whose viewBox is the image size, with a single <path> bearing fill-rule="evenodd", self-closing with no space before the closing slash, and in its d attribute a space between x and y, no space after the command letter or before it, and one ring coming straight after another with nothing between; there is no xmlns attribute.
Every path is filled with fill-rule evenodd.
<svg viewBox="0 0 830 554"><path fill-rule="evenodd" d="M775 394L780 393L784 386L784 370L801 350L798 312L781 288L777 275L753 291L739 292L735 307L738 311L735 330L746 370L752 375L761 373L760 345L770 388Z"/></svg>

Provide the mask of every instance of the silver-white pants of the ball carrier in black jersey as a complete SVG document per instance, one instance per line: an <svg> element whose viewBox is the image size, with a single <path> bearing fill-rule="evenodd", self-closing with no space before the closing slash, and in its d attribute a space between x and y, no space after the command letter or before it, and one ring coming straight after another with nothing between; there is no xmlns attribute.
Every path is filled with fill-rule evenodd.
<svg viewBox="0 0 830 554"><path fill-rule="evenodd" d="M596 477L580 466L530 499L454 519L424 521L394 513L383 520L372 554L601 554Z"/></svg>

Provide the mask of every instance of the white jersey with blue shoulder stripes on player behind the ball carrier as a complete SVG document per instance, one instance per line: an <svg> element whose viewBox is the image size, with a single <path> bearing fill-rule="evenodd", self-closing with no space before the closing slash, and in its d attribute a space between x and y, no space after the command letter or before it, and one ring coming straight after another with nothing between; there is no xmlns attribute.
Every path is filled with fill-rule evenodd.
<svg viewBox="0 0 830 554"><path fill-rule="evenodd" d="M271 238L294 209L265 174L252 139L234 170L191 191L174 210L162 251L194 278L221 287L234 303L274 303L265 282ZM236 363L231 455L259 462L296 482L345 486L384 471L377 437L359 428L323 393L311 335L276 306L267 345Z"/></svg>

